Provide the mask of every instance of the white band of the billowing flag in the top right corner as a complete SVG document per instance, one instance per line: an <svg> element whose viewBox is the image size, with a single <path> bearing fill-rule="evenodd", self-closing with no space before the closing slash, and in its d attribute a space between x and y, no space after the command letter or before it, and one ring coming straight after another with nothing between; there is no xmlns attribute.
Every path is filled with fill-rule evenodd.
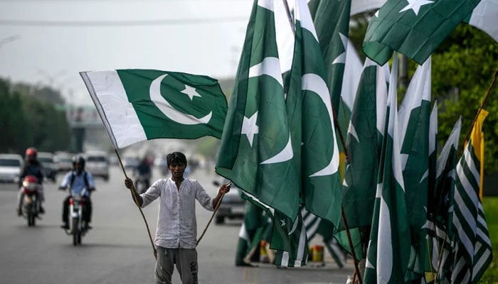
<svg viewBox="0 0 498 284"><path fill-rule="evenodd" d="M498 41L497 17L498 1L481 0L470 16L465 19L465 22L471 26L480 28L481 31L484 31L484 33L487 33L494 40Z"/></svg>

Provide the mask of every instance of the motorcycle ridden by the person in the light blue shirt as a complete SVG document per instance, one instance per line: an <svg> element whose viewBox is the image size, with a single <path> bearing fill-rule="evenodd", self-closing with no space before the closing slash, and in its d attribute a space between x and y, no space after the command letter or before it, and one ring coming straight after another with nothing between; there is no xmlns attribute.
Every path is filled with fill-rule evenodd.
<svg viewBox="0 0 498 284"><path fill-rule="evenodd" d="M87 189L85 187L79 195L71 192L69 198L70 222L69 229L66 229L65 233L73 236L73 246L81 244L81 239L88 232L88 226L83 219L83 208L85 207L85 199L83 197L86 192Z"/></svg>

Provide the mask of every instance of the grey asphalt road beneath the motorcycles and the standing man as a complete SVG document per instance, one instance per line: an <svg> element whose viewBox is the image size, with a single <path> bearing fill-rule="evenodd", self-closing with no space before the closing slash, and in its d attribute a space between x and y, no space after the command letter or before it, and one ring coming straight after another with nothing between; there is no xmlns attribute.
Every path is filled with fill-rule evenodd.
<svg viewBox="0 0 498 284"><path fill-rule="evenodd" d="M159 172L154 170L154 178ZM197 170L193 177L201 182L210 195L216 194L211 185L213 173ZM58 176L60 182L62 175ZM65 192L58 183L46 182L46 214L35 227L17 217L14 185L0 184L0 283L154 283L152 246L147 229L137 207L123 185L120 168L110 169L110 181L96 179L97 191L92 195L93 229L83 238L82 246L73 246L72 239L60 226L60 214ZM206 227L211 212L197 207L198 236ZM157 201L144 209L154 236L157 222ZM208 227L198 245L200 283L346 283L352 275L352 264L344 268L331 258L324 266L277 268L258 263L256 268L234 266L235 247L240 222ZM175 271L173 283L181 283Z"/></svg>

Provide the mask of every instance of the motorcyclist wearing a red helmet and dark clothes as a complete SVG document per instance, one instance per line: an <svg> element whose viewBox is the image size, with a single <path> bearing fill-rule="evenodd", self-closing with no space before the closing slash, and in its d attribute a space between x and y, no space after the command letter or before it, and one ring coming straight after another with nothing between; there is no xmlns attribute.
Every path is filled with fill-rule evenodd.
<svg viewBox="0 0 498 284"><path fill-rule="evenodd" d="M40 214L43 214L45 213L45 209L43 208L42 206L42 202L45 201L45 195L43 195L43 186L42 186L42 182L43 182L43 173L41 171L41 163L38 161L37 159L37 154L38 154L38 151L36 150L36 148L33 148L33 147L29 147L26 149L26 155L25 155L25 163L24 163L24 166L23 166L23 169L21 170L21 175L19 175L19 183L18 183L18 186L19 186L19 192L18 192L18 195L17 195L17 204L18 204L18 207L17 207L17 214L18 215L21 215L22 212L21 212L21 207L22 207L22 204L23 204L23 197L24 197L24 191L23 191L23 187L22 187L22 182L24 180L24 178L26 178L26 176L28 175L33 175L37 182L38 182L38 188L37 188L37 194L38 194L38 212Z"/></svg>

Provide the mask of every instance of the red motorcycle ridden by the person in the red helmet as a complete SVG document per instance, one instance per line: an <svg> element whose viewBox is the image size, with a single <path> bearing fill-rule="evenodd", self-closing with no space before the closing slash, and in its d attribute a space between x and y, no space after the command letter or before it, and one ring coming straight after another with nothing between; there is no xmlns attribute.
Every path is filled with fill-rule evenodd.
<svg viewBox="0 0 498 284"><path fill-rule="evenodd" d="M28 220L28 226L35 226L38 217L38 180L33 175L27 175L24 178L23 187L23 205L21 215Z"/></svg>

